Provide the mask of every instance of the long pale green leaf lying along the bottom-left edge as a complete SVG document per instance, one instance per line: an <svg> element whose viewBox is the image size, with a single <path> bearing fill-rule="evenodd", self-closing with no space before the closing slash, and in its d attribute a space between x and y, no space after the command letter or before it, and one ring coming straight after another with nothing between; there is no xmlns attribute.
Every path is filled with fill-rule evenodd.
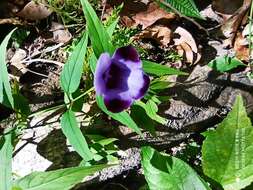
<svg viewBox="0 0 253 190"><path fill-rule="evenodd" d="M73 167L49 172L34 172L15 181L14 185L22 190L68 190L95 172L110 165Z"/></svg>

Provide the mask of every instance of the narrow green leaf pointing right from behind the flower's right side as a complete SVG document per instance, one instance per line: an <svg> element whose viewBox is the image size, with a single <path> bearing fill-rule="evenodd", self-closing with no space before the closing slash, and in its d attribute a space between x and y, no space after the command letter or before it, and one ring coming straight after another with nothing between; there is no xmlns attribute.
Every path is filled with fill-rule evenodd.
<svg viewBox="0 0 253 190"><path fill-rule="evenodd" d="M185 72L179 71L174 68L170 68L165 65L160 65L152 61L142 61L143 70L152 75L163 76L163 75L188 75Z"/></svg>

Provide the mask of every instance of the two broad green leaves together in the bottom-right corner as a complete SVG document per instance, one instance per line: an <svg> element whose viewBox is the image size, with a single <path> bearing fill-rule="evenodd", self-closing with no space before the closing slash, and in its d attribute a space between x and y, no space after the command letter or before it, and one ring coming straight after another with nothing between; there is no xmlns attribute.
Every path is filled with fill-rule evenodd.
<svg viewBox="0 0 253 190"><path fill-rule="evenodd" d="M142 148L142 167L151 190L209 190L208 184L214 189L240 190L253 182L252 150L253 127L238 96L217 129L206 133L199 175L182 160L151 147Z"/></svg>

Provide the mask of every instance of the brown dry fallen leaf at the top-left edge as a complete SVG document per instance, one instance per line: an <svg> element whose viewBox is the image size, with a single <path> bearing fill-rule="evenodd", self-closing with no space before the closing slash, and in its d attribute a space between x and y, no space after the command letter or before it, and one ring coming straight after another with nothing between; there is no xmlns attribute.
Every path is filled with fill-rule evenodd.
<svg viewBox="0 0 253 190"><path fill-rule="evenodd" d="M31 1L26 4L26 6L17 13L17 16L25 20L42 20L47 18L52 13L43 3L35 3Z"/></svg>

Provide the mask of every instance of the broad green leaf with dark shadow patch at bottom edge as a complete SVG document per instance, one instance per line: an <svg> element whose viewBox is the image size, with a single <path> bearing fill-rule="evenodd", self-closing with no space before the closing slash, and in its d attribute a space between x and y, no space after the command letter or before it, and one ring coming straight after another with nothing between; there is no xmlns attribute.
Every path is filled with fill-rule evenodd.
<svg viewBox="0 0 253 190"><path fill-rule="evenodd" d="M188 164L151 147L141 149L141 164L150 190L211 190Z"/></svg>

